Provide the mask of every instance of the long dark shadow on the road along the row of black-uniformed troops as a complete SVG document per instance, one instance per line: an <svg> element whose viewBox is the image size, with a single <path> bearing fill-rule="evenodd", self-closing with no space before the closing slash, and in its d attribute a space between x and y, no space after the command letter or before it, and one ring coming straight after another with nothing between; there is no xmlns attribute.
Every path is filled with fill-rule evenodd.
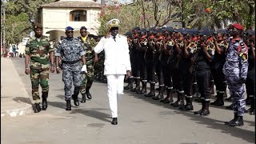
<svg viewBox="0 0 256 144"><path fill-rule="evenodd" d="M244 130L239 127L226 126L226 125L224 125L224 122L219 121L217 119L208 118L207 116L203 117L203 116L195 115L194 111L178 110L178 108L174 108L174 107L170 106L169 104L164 104L162 102L155 101L152 98L146 98L143 94L136 94L134 92L131 92L130 90L125 90L125 93L134 98L139 98L142 101L150 102L157 106L162 106L167 109L175 110L174 111L175 113L183 114L186 117L189 117L192 121L197 122L202 125L205 125L208 128L215 129L215 130L222 130L222 133L231 134L234 137L242 138L246 142L250 142L250 143L255 142L255 136L254 136L255 132L254 131ZM177 94L174 94L174 95L176 96ZM250 123L250 126L255 126L255 122L250 122L250 121L246 121L246 120L244 122Z"/></svg>

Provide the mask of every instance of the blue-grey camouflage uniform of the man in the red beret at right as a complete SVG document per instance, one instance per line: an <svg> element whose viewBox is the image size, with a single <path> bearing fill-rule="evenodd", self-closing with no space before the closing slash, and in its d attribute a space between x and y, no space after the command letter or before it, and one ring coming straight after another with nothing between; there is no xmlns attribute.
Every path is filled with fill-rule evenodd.
<svg viewBox="0 0 256 144"><path fill-rule="evenodd" d="M226 51L223 73L230 89L234 114L243 116L246 108L244 82L248 71L248 48L241 38L232 39Z"/></svg>

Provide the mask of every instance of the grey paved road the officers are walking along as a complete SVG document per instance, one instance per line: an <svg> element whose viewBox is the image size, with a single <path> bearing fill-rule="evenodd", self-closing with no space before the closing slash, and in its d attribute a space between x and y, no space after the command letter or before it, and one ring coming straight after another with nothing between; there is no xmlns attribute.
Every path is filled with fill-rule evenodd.
<svg viewBox="0 0 256 144"><path fill-rule="evenodd" d="M13 62L30 94L30 79L24 74L24 59L14 58ZM249 114L244 117L245 126L230 127L225 126L223 122L233 118L233 114L224 107L210 107L211 114L201 117L129 91L126 91L118 105L118 125L112 126L106 84L94 82L91 90L92 100L78 107L73 106L72 111L65 110L63 87L61 74L50 74L48 109L39 114L2 119L1 142L243 144L254 143L255 140L254 116ZM230 105L230 102L225 104ZM194 102L194 110L200 108L201 106Z"/></svg>

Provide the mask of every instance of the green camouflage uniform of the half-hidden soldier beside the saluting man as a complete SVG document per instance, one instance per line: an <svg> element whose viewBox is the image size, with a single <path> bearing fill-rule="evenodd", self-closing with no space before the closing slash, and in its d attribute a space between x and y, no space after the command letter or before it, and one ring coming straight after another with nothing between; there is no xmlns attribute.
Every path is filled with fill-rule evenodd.
<svg viewBox="0 0 256 144"><path fill-rule="evenodd" d="M86 42L83 42L81 37L78 37L78 39L83 43L84 50L86 51L87 73L82 73L82 85L80 90L82 94L85 94L86 90L89 91L94 82L94 46L96 46L96 41L94 38L86 38Z"/></svg>

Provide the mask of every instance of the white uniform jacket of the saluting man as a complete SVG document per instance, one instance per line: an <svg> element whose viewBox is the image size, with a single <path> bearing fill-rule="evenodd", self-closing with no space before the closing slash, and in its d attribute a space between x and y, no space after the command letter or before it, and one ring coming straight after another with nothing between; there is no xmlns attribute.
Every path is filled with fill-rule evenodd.
<svg viewBox="0 0 256 144"><path fill-rule="evenodd" d="M110 35L110 38L102 38L94 48L97 54L105 51L104 75L126 74L126 70L131 70L127 38L118 34L115 41Z"/></svg>

